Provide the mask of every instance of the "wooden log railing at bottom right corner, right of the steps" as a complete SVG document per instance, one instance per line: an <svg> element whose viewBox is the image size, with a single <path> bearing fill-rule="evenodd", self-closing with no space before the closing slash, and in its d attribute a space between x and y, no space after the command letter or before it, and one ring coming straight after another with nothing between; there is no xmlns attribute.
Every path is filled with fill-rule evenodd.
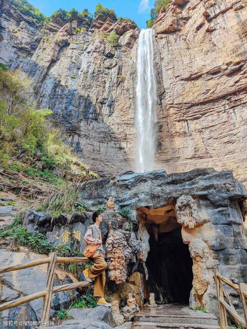
<svg viewBox="0 0 247 329"><path fill-rule="evenodd" d="M243 328L247 329L247 284L235 284L231 280L220 275L217 270L215 270L214 275L217 289L221 329L228 329L226 311L229 312L230 318L232 318L238 325L241 325ZM229 294L226 292L222 283L228 285L233 290L235 290L235 292L240 294L240 298L243 303L245 319L242 319L236 312L230 300Z"/></svg>

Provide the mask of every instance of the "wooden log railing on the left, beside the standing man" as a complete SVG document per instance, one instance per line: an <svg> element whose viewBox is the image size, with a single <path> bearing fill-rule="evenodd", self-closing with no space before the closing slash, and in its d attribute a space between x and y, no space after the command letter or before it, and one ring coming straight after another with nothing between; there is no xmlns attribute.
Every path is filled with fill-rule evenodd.
<svg viewBox="0 0 247 329"><path fill-rule="evenodd" d="M43 307L41 313L41 323L46 323L50 318L50 306L52 293L54 292L64 292L67 290L82 288L89 286L88 282L74 282L66 285L53 287L54 272L55 272L55 263L81 263L89 261L87 257L57 257L56 253L50 253L47 258L34 260L26 264L19 264L14 266L3 266L0 267L0 274L10 271L21 270L23 268L38 266L42 264L48 264L47 267L47 276L46 276L46 286L45 290L42 292L35 292L28 296L23 296L14 300L7 301L3 304L0 304L0 311L4 311L8 308L18 306L21 304L28 303L31 300L38 299L43 297Z"/></svg>

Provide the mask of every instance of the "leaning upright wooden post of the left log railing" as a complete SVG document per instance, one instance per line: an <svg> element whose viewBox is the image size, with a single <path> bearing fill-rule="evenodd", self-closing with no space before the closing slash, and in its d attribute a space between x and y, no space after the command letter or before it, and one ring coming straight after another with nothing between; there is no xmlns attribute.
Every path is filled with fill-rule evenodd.
<svg viewBox="0 0 247 329"><path fill-rule="evenodd" d="M43 298L43 308L42 308L42 315L41 315L41 322L43 323L43 325L46 321L49 321L49 318L50 318L50 306L51 306L52 291L53 291L56 253L50 253L49 257L50 257L50 263L48 264L48 267L47 267L45 296Z"/></svg>

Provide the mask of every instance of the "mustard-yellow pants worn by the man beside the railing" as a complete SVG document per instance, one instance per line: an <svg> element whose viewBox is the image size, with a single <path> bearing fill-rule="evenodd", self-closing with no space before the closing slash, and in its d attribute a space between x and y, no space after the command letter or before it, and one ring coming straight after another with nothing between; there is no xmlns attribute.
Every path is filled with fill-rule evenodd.
<svg viewBox="0 0 247 329"><path fill-rule="evenodd" d="M104 257L98 252L90 259L92 259L93 265L87 269L87 276L89 279L95 278L93 295L94 297L104 297L106 283L105 269L107 268L107 263Z"/></svg>

